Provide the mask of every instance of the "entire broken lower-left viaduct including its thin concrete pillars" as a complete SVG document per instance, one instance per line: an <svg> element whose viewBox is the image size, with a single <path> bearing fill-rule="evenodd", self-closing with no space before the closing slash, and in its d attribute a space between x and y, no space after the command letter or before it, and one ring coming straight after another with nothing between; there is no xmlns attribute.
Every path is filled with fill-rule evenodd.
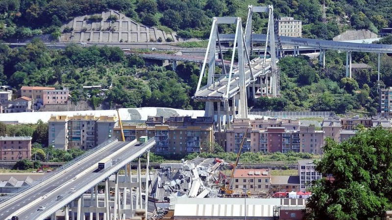
<svg viewBox="0 0 392 220"><path fill-rule="evenodd" d="M50 217L55 220L55 213L59 209L65 210L65 217L69 219L70 204L71 215L76 214L77 220L85 219L86 213L92 219L93 215L98 218L103 215L105 220L125 218L125 213L133 215L136 208L144 208L147 212L147 199L143 206L142 180L140 156L147 155L146 172L148 172L149 150L154 146L155 140L149 139L146 143L134 141L122 141L112 139L91 151L76 158L70 164L59 168L56 173L48 174L35 185L17 192L0 203L0 219L9 220L12 216L18 216L20 220L43 220ZM111 159L113 165L98 170L98 162L102 159ZM132 182L130 162L138 159L137 181ZM129 166L127 166L129 164ZM128 168L127 168L128 167ZM125 177L122 184L119 183L119 170L125 169ZM110 200L109 177L115 175L114 201ZM146 176L148 180L148 175ZM103 206L98 206L98 184L104 182L105 195ZM145 189L148 189L148 181L145 181ZM122 196L119 185L123 189ZM136 201L130 196L126 198L126 192L136 188ZM91 198L95 196L95 204L90 201L90 207L84 207L83 194L90 191ZM145 192L145 195L148 192ZM74 209L74 205L76 209ZM136 204L134 206L133 204ZM40 206L45 206L40 209ZM130 216L127 216L127 218ZM74 218L73 218L74 219Z"/></svg>

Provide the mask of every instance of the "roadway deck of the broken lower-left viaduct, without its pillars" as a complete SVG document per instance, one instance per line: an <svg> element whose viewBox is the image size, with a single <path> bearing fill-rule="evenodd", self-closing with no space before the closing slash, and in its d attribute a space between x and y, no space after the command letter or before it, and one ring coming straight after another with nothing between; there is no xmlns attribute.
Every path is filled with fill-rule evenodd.
<svg viewBox="0 0 392 220"><path fill-rule="evenodd" d="M1 207L0 219L10 219L12 216L18 216L20 220L49 217L104 178L116 172L119 161L126 160L130 162L149 150L154 143L155 141L152 140L147 145L138 146L139 142L136 140L131 142L115 141L99 154L89 156L81 161L76 168L64 174L59 174L54 180L46 181L41 187L25 193L23 197ZM103 158L112 158L115 164L101 172L95 172L98 168L98 162ZM72 188L75 190L71 191ZM57 199L59 196L62 198ZM46 206L46 209L39 211L39 206ZM45 215L45 217L42 215Z"/></svg>

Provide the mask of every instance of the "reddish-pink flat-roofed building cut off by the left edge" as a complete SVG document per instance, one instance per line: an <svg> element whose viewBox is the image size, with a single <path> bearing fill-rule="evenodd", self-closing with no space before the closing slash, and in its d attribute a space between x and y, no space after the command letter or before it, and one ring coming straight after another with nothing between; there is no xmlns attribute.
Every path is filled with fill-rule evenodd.
<svg viewBox="0 0 392 220"><path fill-rule="evenodd" d="M31 137L0 137L0 160L31 158Z"/></svg>

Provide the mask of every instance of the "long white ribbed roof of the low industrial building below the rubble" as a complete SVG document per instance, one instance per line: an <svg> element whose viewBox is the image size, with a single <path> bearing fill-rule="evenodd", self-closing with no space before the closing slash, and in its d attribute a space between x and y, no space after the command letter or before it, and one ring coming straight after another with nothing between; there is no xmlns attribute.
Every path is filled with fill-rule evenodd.
<svg viewBox="0 0 392 220"><path fill-rule="evenodd" d="M183 217L243 217L245 203L241 198L177 198L174 216ZM246 216L272 217L273 207L280 205L279 198L247 198Z"/></svg>

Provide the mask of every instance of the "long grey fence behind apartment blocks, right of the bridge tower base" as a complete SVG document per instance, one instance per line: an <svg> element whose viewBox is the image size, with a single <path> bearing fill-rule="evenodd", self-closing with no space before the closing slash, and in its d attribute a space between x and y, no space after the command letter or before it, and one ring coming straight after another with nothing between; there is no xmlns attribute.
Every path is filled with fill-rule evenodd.
<svg viewBox="0 0 392 220"><path fill-rule="evenodd" d="M249 111L248 114L262 115L277 118L310 118L310 117L330 117L331 111Z"/></svg>

